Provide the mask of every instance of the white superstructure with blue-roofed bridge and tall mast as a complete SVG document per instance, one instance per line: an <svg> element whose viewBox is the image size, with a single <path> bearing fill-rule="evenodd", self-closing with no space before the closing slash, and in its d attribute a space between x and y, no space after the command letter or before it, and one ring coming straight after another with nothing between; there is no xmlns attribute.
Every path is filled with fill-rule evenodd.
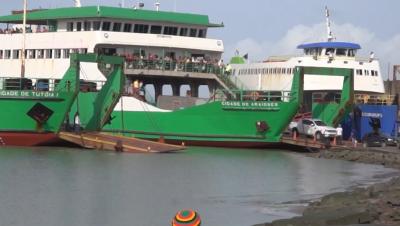
<svg viewBox="0 0 400 226"><path fill-rule="evenodd" d="M251 90L288 91L293 79L293 69L304 67L331 67L354 69L354 90L359 94L384 93L379 61L371 54L357 57L361 46L350 42L337 42L330 28L329 11L326 10L327 41L299 45L301 56L273 56L256 63L231 64L232 81L239 87ZM342 78L306 75L305 91L335 91L342 89Z"/></svg>

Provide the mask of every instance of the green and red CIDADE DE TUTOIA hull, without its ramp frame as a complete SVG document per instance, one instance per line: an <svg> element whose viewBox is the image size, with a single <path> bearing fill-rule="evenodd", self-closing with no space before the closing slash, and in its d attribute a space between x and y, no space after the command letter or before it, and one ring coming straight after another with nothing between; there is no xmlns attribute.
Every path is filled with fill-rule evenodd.
<svg viewBox="0 0 400 226"><path fill-rule="evenodd" d="M74 92L2 91L0 145L37 146L57 142L56 132ZM44 97L46 96L46 97Z"/></svg>

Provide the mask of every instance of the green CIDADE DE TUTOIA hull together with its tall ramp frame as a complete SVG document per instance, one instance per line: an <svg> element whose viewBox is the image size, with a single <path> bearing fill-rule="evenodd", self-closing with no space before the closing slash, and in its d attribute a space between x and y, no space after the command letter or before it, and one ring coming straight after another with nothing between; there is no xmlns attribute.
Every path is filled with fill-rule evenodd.
<svg viewBox="0 0 400 226"><path fill-rule="evenodd" d="M108 118L112 103L120 97L124 75L121 71L123 59L120 57L98 56L96 54L71 54L70 67L54 91L39 91L22 88L23 80L6 78L0 80L0 146L37 146L61 141L58 132L64 125L71 124L67 117L80 90L80 62L107 62L117 65L113 79L107 81L100 90L95 114L90 127L99 129L104 123L101 117ZM12 85L11 82L13 82ZM103 106L104 105L104 106ZM111 110L109 110L111 111Z"/></svg>

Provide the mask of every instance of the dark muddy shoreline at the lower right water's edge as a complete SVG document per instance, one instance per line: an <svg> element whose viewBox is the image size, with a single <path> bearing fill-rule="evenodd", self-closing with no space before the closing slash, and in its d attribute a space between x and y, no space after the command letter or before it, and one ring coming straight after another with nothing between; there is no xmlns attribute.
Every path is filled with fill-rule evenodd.
<svg viewBox="0 0 400 226"><path fill-rule="evenodd" d="M377 164L400 170L399 149L340 147L307 154L314 158ZM388 182L326 195L302 216L255 226L400 225L400 171Z"/></svg>

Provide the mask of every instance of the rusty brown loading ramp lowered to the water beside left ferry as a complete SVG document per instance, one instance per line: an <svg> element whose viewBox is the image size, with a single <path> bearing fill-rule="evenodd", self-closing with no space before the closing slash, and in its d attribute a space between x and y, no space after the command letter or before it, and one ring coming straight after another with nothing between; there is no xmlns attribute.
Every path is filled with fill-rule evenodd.
<svg viewBox="0 0 400 226"><path fill-rule="evenodd" d="M166 153L178 152L185 149L184 146L100 132L60 132L58 137L83 148L117 152Z"/></svg>

